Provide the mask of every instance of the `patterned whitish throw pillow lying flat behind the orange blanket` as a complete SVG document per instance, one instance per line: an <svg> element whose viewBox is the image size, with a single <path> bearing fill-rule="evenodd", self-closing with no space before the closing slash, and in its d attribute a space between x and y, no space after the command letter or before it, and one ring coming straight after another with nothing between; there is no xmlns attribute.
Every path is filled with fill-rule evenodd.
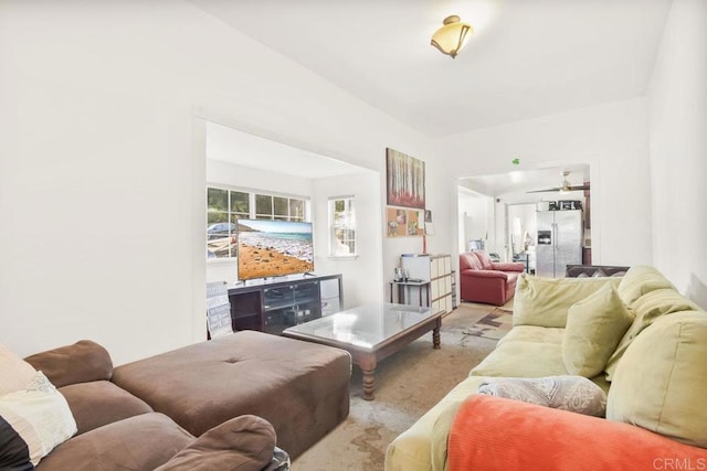
<svg viewBox="0 0 707 471"><path fill-rule="evenodd" d="M521 400L587 416L604 417L606 413L606 394L583 376L493 378L478 386L478 394Z"/></svg>

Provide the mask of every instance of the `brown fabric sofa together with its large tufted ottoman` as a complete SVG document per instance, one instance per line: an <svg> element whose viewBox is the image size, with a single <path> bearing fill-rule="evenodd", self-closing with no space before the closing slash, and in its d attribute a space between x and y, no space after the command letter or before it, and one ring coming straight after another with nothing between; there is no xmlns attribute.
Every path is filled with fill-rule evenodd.
<svg viewBox="0 0 707 471"><path fill-rule="evenodd" d="M261 332L115 368L91 341L25 361L66 398L78 429L43 471L255 471L273 464L276 445L294 458L349 410L347 352Z"/></svg>

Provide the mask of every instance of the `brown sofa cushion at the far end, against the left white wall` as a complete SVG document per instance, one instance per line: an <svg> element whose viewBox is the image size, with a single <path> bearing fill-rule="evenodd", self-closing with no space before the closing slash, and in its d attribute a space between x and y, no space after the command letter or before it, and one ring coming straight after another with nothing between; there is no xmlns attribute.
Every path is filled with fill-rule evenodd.
<svg viewBox="0 0 707 471"><path fill-rule="evenodd" d="M113 361L103 346L89 340L48 350L24 358L56 387L110 379Z"/></svg>

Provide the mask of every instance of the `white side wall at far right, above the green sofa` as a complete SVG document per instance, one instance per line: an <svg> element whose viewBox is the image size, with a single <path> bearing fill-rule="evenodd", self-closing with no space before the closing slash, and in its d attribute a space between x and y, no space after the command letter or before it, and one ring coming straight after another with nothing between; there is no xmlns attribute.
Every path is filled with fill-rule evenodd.
<svg viewBox="0 0 707 471"><path fill-rule="evenodd" d="M653 257L707 308L707 2L674 0L648 88Z"/></svg>

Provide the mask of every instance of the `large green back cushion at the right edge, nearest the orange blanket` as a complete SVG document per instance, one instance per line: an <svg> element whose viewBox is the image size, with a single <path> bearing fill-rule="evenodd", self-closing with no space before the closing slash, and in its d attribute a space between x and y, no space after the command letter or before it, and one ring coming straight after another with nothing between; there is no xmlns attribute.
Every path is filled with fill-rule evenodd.
<svg viewBox="0 0 707 471"><path fill-rule="evenodd" d="M606 418L707 448L707 313L656 320L616 367Z"/></svg>

